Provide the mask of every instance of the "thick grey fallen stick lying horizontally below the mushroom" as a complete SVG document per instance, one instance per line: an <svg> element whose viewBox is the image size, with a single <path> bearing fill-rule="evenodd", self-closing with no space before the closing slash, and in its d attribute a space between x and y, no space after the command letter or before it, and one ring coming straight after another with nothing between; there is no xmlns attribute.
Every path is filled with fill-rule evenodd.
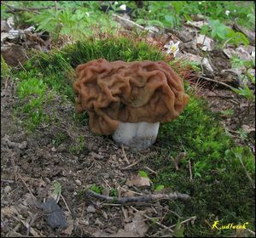
<svg viewBox="0 0 256 238"><path fill-rule="evenodd" d="M138 196L124 196L124 197L113 197L108 195L97 194L92 190L86 190L84 193L85 196L94 196L98 199L106 200L114 204L124 204L127 202L147 202L155 200L183 200L187 201L190 199L189 195L181 193L169 193L169 194L151 194L151 195L138 195Z"/></svg>

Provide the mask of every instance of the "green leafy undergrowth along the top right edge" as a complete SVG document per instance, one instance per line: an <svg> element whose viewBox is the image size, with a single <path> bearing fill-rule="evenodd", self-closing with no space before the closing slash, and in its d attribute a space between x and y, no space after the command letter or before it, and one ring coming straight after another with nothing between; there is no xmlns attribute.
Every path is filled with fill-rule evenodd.
<svg viewBox="0 0 256 238"><path fill-rule="evenodd" d="M246 7L241 6L247 5ZM247 26L253 29L255 26L255 7L253 3L236 3L229 1L148 1L143 3L143 8L134 12L133 16L136 18L138 24L146 26L159 27L177 27L179 28L183 20L192 20L195 14L205 14L209 20L219 20L221 24L230 24L237 20L238 24ZM217 23L216 23L217 25ZM218 26L215 28L218 28ZM220 27L223 32L224 26ZM224 37L224 32L221 36L230 42L247 42L244 36L235 31L230 31L227 26L225 29L229 32ZM220 33L221 34L221 33Z"/></svg>

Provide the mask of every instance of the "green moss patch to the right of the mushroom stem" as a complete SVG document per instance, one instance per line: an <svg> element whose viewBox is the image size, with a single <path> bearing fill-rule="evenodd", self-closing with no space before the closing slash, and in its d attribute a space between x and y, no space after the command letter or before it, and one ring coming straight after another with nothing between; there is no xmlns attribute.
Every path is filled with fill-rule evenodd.
<svg viewBox="0 0 256 238"><path fill-rule="evenodd" d="M219 220L220 224L244 224L249 222L254 229L254 191L241 166L255 177L252 152L247 147L238 147L224 132L218 118L209 111L207 102L191 95L183 114L160 127L158 139L161 153L151 161L151 167L162 167L154 184L191 195L189 204L170 202L172 211L184 218L196 216L195 225L185 229L185 235L230 235L232 230L211 230L209 224ZM186 157L177 171L170 157L180 152ZM189 180L189 161L193 179ZM168 221L177 222L170 216Z"/></svg>

